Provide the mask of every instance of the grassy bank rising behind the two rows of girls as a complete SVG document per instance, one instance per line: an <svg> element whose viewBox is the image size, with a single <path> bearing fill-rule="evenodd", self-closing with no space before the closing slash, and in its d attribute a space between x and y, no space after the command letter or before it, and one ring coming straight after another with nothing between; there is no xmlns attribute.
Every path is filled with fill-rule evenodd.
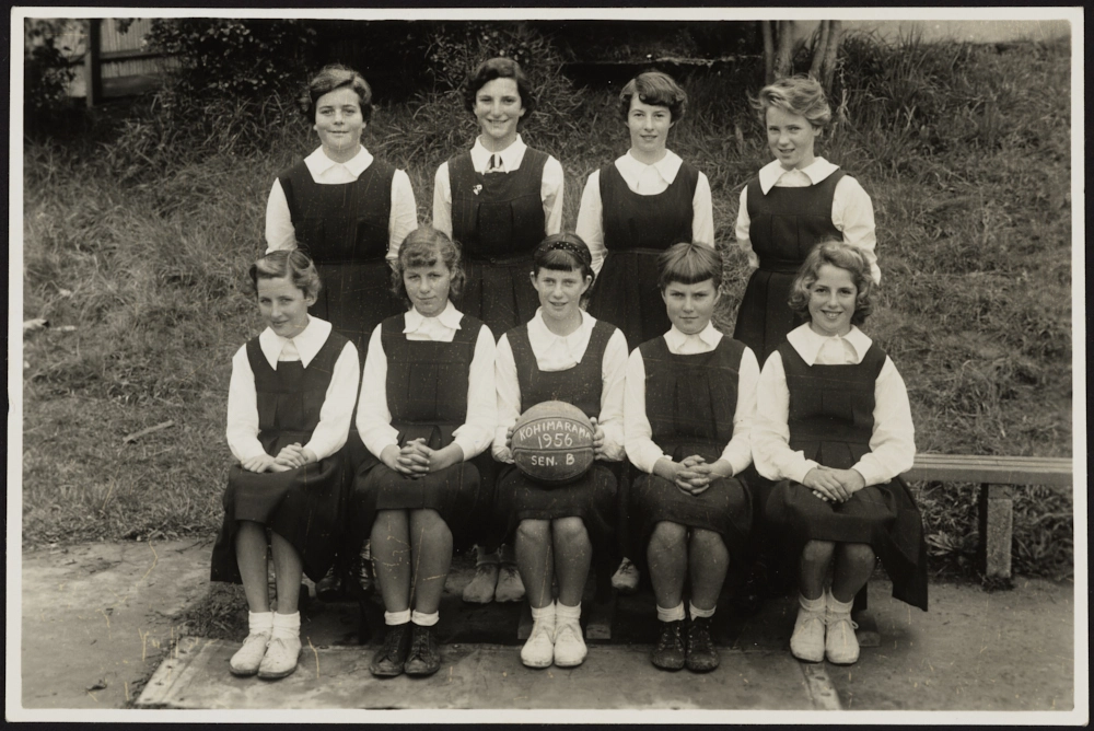
<svg viewBox="0 0 1094 731"><path fill-rule="evenodd" d="M818 152L874 201L883 271L866 332L911 395L921 451L1071 452L1070 49L851 38ZM745 93L755 68L685 80L670 146L711 182L731 328L741 187L768 160ZM568 86L525 138L562 161L563 224L585 176L622 153L614 96ZM231 353L257 332L241 289L277 172L315 146L277 100L178 128L137 109L101 141L24 147L24 542L210 535L221 517ZM274 121L271 121L274 120ZM437 165L466 147L452 95L377 109L365 143L407 170L428 221ZM72 332L58 330L72 325ZM171 420L132 443L123 438ZM970 486L923 485L938 568L964 569ZM1017 570L1071 570L1070 503L1020 490Z"/></svg>

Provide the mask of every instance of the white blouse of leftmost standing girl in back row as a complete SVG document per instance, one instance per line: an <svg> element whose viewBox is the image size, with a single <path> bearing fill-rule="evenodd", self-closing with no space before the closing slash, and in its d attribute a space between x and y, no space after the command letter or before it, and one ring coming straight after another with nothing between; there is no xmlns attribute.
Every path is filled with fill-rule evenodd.
<svg viewBox="0 0 1094 731"><path fill-rule="evenodd" d="M319 185L344 185L361 177L374 158L363 147L351 160L345 163L335 162L323 152L321 147L304 158L304 165L312 174L312 179ZM418 204L415 202L410 177L401 170L395 171L392 178L392 213L387 222L387 258L399 255L399 245L407 234L418 228ZM281 188L281 181L275 179L266 202L266 253L279 248L296 247L296 230L292 225L289 212L289 201Z"/></svg>

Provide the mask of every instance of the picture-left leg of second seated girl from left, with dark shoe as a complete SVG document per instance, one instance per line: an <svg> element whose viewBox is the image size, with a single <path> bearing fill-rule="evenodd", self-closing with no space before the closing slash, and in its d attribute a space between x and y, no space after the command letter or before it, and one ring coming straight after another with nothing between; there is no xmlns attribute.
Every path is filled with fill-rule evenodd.
<svg viewBox="0 0 1094 731"><path fill-rule="evenodd" d="M410 651L410 521L405 510L381 510L372 524L372 558L384 600L384 645L372 657L373 675L401 675Z"/></svg>

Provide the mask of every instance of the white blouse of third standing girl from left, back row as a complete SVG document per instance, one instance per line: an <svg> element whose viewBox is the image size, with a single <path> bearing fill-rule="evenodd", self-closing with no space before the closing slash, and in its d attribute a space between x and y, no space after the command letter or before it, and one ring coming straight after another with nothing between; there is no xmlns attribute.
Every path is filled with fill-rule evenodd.
<svg viewBox="0 0 1094 731"><path fill-rule="evenodd" d="M628 152L615 161L616 170L633 193L640 196L655 196L676 179L684 161L672 150L665 156L647 165ZM601 201L601 171L595 170L585 182L578 210L577 234L589 245L593 255L593 271L601 272L604 266L604 204ZM691 196L691 241L714 247L714 210L710 200L710 182L700 172L699 182Z"/></svg>

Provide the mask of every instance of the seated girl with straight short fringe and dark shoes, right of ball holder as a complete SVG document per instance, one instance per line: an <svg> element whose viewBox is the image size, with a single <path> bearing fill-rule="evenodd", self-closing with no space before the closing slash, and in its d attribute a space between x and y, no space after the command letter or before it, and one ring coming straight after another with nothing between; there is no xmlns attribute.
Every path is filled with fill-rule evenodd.
<svg viewBox="0 0 1094 731"><path fill-rule="evenodd" d="M749 432L759 364L746 346L710 322L722 259L698 244L661 257L661 292L673 326L643 343L627 363L627 456L641 471L629 511L645 547L657 600L657 668L718 666L710 623L731 556L741 558L752 523ZM690 578L690 624L684 585ZM686 638L686 641L685 641Z"/></svg>

